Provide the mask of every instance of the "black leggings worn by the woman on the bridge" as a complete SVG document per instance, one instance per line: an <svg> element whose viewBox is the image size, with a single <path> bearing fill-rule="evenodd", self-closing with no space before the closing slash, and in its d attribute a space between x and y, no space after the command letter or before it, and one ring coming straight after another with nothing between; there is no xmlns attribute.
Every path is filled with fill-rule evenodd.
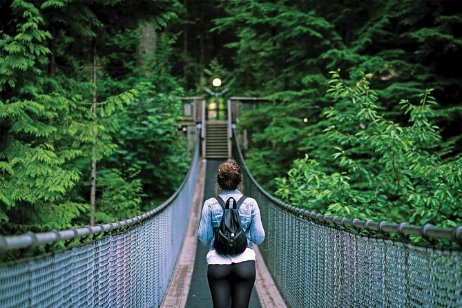
<svg viewBox="0 0 462 308"><path fill-rule="evenodd" d="M253 282L255 261L233 264L209 264L207 279L215 308L247 308Z"/></svg>

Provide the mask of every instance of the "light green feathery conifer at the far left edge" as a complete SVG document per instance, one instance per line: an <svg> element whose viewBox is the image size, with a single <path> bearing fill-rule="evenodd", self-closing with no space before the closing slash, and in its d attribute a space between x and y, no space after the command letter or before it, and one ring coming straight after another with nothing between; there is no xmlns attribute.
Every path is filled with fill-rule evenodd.
<svg viewBox="0 0 462 308"><path fill-rule="evenodd" d="M0 42L0 220L63 227L86 211L85 203L64 198L80 180L68 161L81 151L55 143L73 102L58 90L43 93L50 34L39 10L13 1L12 12L17 26Z"/></svg>

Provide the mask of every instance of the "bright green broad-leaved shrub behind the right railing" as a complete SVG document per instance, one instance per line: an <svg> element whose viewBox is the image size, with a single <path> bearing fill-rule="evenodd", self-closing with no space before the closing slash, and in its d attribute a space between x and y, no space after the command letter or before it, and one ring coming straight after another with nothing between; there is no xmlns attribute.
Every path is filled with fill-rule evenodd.
<svg viewBox="0 0 462 308"><path fill-rule="evenodd" d="M331 125L323 133L336 153L327 160L334 173L320 171L306 155L285 178L276 195L311 211L363 220L388 220L439 227L462 224L462 160L443 160L441 135L432 124L432 89L417 105L400 102L407 124L387 119L371 75L347 86L331 72L329 95L336 102L325 112Z"/></svg>

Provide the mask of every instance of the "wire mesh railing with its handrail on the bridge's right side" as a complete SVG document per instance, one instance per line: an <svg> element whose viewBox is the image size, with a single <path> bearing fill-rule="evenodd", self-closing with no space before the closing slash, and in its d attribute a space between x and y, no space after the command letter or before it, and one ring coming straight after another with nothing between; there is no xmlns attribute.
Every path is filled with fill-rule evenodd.
<svg viewBox="0 0 462 308"><path fill-rule="evenodd" d="M237 142L233 157L244 173L244 193L260 206L267 236L259 248L288 307L462 307L460 249L359 232L396 232L460 244L462 227L363 222L298 209L260 187Z"/></svg>

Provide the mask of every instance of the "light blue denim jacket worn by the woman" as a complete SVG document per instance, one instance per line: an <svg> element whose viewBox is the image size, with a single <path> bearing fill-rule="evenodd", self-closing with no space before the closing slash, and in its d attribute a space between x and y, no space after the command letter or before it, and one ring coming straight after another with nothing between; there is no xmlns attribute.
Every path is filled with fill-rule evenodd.
<svg viewBox="0 0 462 308"><path fill-rule="evenodd" d="M242 197L242 193L237 189L234 191L222 191L220 197L226 202L229 197L233 197L236 202ZM247 197L239 207L239 215L242 222L242 228L248 229L247 232L247 247L253 248L252 242L261 244L264 240L264 229L262 219L260 217L260 209L255 199ZM200 218L200 226L198 230L198 238L202 244L210 244L209 251L215 249L213 241L213 229L220 227L222 221L223 208L215 198L210 198L204 202L202 207L202 215Z"/></svg>

